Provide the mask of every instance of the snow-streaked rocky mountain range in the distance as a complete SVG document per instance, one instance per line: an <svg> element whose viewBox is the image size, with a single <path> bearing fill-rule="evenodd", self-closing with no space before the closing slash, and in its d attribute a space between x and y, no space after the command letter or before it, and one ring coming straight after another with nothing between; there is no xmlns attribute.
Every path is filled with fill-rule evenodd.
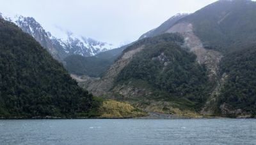
<svg viewBox="0 0 256 145"><path fill-rule="evenodd" d="M6 17L2 15L1 17L13 22L18 25L22 31L33 36L36 41L51 53L54 59L61 62L69 55L89 57L115 48L115 46L109 43L96 41L84 36L76 36L75 34L72 34L72 32L65 32L67 34L65 39L56 38L52 36L51 32L45 31L42 25L36 22L33 17L23 17L20 15L16 15L14 17Z"/></svg>

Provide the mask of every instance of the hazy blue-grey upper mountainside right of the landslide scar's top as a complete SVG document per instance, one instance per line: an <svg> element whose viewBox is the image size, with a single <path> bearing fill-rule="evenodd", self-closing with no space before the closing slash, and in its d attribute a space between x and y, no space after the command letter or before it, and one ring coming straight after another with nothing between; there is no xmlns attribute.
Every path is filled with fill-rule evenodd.
<svg viewBox="0 0 256 145"><path fill-rule="evenodd" d="M195 34L205 48L225 53L256 41L255 11L255 1L221 0L180 21L193 24Z"/></svg>

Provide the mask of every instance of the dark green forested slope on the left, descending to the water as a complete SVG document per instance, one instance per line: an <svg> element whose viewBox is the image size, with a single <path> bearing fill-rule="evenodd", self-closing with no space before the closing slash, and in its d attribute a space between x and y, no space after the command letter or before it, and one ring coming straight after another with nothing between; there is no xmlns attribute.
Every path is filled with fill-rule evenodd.
<svg viewBox="0 0 256 145"><path fill-rule="evenodd" d="M0 117L83 116L92 95L29 34L0 19Z"/></svg>

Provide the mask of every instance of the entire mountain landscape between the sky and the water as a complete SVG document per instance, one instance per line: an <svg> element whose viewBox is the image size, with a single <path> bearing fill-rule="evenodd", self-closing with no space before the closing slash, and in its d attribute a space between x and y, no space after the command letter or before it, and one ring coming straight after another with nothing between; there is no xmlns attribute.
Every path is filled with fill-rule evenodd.
<svg viewBox="0 0 256 145"><path fill-rule="evenodd" d="M255 118L255 1L175 15L119 48L0 20L0 118Z"/></svg>

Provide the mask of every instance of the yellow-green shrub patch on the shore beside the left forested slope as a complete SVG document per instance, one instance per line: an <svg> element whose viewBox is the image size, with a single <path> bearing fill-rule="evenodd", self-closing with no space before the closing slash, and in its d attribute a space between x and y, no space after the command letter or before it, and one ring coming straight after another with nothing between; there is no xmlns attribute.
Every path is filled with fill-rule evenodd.
<svg viewBox="0 0 256 145"><path fill-rule="evenodd" d="M146 115L146 112L127 102L105 100L99 97L93 97L93 106L89 113L90 117L95 118L136 118Z"/></svg>

